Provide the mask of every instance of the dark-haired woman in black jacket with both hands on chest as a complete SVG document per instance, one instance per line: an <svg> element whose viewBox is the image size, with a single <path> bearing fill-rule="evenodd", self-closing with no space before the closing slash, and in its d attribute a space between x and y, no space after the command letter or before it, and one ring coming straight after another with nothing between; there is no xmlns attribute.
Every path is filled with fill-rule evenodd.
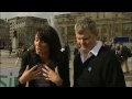
<svg viewBox="0 0 132 99"><path fill-rule="evenodd" d="M34 50L22 57L19 85L24 87L69 86L69 68L61 52L61 42L56 31L45 25L38 29L34 38Z"/></svg>

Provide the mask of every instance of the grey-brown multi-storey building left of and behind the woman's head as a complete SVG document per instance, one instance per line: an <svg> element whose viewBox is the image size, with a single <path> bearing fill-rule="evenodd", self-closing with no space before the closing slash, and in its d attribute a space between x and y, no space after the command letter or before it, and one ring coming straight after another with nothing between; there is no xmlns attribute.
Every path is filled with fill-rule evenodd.
<svg viewBox="0 0 132 99"><path fill-rule="evenodd" d="M45 24L48 24L46 19L35 16L15 16L9 19L10 40L13 33L16 32L19 45L31 45L35 35L35 31Z"/></svg>

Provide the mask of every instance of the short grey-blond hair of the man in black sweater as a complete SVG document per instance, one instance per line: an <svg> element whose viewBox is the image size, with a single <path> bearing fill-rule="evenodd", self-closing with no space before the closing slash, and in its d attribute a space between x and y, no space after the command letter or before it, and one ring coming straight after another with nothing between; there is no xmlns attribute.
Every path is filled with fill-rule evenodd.
<svg viewBox="0 0 132 99"><path fill-rule="evenodd" d="M90 18L80 18L75 24L75 32L81 33L82 31L88 30L91 33L97 33L97 24Z"/></svg>

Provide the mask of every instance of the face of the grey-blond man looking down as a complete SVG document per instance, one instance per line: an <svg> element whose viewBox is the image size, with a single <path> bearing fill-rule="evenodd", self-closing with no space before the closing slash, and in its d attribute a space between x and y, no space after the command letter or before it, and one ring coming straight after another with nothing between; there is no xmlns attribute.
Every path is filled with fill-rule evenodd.
<svg viewBox="0 0 132 99"><path fill-rule="evenodd" d="M82 51L90 50L95 46L97 41L97 35L90 31L82 31L81 33L76 33L77 44Z"/></svg>

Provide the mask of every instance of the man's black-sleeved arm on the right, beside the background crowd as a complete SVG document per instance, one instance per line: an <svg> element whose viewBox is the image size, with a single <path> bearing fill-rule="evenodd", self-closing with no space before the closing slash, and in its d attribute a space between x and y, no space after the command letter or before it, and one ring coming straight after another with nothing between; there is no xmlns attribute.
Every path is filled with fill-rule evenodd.
<svg viewBox="0 0 132 99"><path fill-rule="evenodd" d="M103 77L106 87L125 87L121 64L114 55L110 57L108 66L105 67Z"/></svg>

